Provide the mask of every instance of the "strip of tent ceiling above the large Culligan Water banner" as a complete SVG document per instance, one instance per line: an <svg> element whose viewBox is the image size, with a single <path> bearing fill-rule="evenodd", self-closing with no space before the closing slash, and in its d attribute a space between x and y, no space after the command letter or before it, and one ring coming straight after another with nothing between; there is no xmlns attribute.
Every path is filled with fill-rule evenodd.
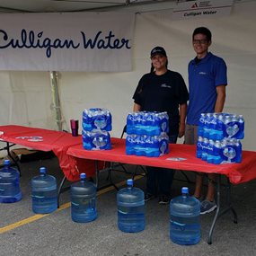
<svg viewBox="0 0 256 256"><path fill-rule="evenodd" d="M0 13L150 12L172 9L183 0L0 0Z"/></svg>

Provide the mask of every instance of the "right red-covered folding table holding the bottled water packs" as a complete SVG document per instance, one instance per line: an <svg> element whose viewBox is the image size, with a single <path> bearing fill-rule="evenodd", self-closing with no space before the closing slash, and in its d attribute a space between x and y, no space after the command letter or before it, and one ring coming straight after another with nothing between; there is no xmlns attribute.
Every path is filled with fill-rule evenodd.
<svg viewBox="0 0 256 256"><path fill-rule="evenodd" d="M115 163L130 163L184 171L218 174L216 181L217 208L208 233L207 243L209 244L212 243L212 234L218 216L221 216L225 212L231 210L234 215L234 223L237 223L237 216L231 203L230 183L239 184L256 178L256 152L252 151L243 151L242 163L213 164L202 161L196 157L196 146L171 144L170 153L164 154L160 157L146 157L126 154L125 139L113 137L111 138L111 146L112 148L110 150L101 151L84 150L82 145L70 146L67 149L66 154L75 158L91 159L95 162L108 161ZM96 170L96 172L98 172L98 170ZM222 211L220 211L221 175L225 175L228 178L226 184L227 202L226 207L222 208Z"/></svg>

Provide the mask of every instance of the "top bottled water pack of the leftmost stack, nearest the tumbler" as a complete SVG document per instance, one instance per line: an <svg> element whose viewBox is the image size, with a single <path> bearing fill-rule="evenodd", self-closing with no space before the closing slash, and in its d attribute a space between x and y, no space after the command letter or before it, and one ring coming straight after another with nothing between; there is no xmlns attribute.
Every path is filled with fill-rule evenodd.
<svg viewBox="0 0 256 256"><path fill-rule="evenodd" d="M83 111L83 129L86 131L93 129L110 131L112 129L110 111L101 108L85 109Z"/></svg>

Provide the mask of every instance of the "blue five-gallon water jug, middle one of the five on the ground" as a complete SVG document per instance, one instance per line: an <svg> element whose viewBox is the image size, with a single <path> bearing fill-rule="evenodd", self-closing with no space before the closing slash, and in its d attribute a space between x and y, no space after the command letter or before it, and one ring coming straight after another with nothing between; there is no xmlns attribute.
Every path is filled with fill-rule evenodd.
<svg viewBox="0 0 256 256"><path fill-rule="evenodd" d="M93 182L86 181L86 174L80 174L80 181L71 185L71 217L75 222L90 222L97 218L96 192Z"/></svg>

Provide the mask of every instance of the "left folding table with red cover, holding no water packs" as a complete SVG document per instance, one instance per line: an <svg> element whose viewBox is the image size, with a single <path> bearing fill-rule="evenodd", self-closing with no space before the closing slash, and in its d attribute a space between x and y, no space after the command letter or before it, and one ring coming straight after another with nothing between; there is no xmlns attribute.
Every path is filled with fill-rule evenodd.
<svg viewBox="0 0 256 256"><path fill-rule="evenodd" d="M64 173L64 178L58 187L57 202L59 202L60 193L69 189L69 187L64 188L64 181L78 181L81 172L86 172L88 177L93 176L95 173L94 161L79 159L66 154L70 146L82 145L81 136L72 137L70 133L64 131L44 128L7 125L0 126L0 140L6 143L6 146L0 150L6 150L12 159L10 147L13 145L27 146L45 152L52 151L56 154L59 166ZM13 161L20 171L19 164L15 159Z"/></svg>

